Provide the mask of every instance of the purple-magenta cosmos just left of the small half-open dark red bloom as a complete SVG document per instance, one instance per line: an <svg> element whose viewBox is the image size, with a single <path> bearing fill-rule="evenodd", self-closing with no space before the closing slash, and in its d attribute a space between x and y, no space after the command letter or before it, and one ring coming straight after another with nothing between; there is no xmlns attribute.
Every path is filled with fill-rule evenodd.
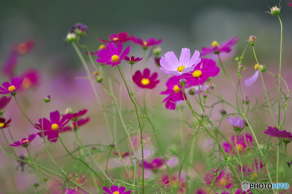
<svg viewBox="0 0 292 194"><path fill-rule="evenodd" d="M112 67L120 64L124 56L130 52L130 45L128 45L128 47L121 54L123 50L123 44L121 42L118 42L118 47L116 44L114 44L114 42L112 42L108 43L105 48L106 49L101 49L98 51L97 56L99 59L96 59L96 62L112 65Z"/></svg>

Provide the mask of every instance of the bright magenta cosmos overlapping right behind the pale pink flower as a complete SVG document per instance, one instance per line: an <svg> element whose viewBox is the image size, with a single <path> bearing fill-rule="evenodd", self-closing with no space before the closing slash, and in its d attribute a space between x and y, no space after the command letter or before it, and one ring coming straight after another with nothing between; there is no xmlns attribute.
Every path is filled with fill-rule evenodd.
<svg viewBox="0 0 292 194"><path fill-rule="evenodd" d="M194 67L194 71L186 73L183 77L187 80L187 84L192 86L203 85L209 77L217 76L220 72L212 59L201 58L201 62Z"/></svg>

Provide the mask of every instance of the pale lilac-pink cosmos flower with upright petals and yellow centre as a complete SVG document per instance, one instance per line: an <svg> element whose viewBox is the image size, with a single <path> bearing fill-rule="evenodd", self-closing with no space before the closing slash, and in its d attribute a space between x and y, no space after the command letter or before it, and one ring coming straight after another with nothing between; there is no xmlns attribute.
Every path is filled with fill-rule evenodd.
<svg viewBox="0 0 292 194"><path fill-rule="evenodd" d="M167 52L164 57L160 59L159 67L166 74L182 75L183 73L194 71L194 66L200 63L200 52L195 51L192 58L190 49L184 48L180 54L180 61L175 56L173 51Z"/></svg>

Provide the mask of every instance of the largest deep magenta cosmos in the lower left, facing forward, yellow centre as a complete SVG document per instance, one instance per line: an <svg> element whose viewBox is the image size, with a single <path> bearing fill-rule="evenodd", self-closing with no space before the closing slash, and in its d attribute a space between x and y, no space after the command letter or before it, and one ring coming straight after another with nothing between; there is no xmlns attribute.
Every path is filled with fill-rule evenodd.
<svg viewBox="0 0 292 194"><path fill-rule="evenodd" d="M42 129L44 130L44 135L48 136L48 140L51 140L51 142L56 142L57 138L59 137L59 132L65 132L65 131L71 131L71 127L69 125L66 126L66 124L71 120L72 115L71 113L67 113L66 115L62 115L62 118L60 118L59 111L54 111L50 113L50 119L44 118L43 119L43 126L44 129L42 129L42 120L39 119L39 124L35 124L37 127L36 129ZM61 120L60 120L61 119ZM39 128L38 128L39 127ZM39 136L42 137L42 132L37 133Z"/></svg>

